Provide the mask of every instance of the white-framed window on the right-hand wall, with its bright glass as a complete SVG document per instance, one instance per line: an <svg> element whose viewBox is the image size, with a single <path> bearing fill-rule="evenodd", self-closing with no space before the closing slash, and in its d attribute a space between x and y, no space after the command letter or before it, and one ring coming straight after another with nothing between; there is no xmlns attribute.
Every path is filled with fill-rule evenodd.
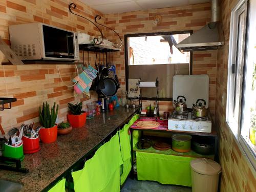
<svg viewBox="0 0 256 192"><path fill-rule="evenodd" d="M226 121L255 167L256 3L247 2L241 0L231 12Z"/></svg>

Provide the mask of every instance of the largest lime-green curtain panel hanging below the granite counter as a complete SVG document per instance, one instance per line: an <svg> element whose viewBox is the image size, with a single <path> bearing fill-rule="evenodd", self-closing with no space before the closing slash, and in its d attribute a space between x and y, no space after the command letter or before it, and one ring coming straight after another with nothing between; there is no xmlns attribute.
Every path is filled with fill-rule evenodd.
<svg viewBox="0 0 256 192"><path fill-rule="evenodd" d="M75 192L120 191L120 165L123 164L118 133L86 161L82 170L72 173Z"/></svg>

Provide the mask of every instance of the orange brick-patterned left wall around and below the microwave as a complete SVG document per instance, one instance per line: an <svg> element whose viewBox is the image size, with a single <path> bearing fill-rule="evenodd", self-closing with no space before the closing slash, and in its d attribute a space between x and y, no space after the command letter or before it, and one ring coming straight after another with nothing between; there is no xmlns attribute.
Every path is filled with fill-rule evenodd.
<svg viewBox="0 0 256 192"><path fill-rule="evenodd" d="M87 20L69 12L70 2L68 0L1 0L1 38L10 45L9 25L34 22L86 32L94 36L99 35L95 27ZM77 0L72 2L77 5L77 12L82 16L93 20L94 16L99 14L102 16L102 22L105 22L104 15L98 11ZM95 61L94 57L93 54L90 54L91 62ZM82 58L82 53L80 53L80 58ZM0 52L0 62L5 61L4 55ZM59 68L63 80L67 84L72 84L70 80L76 75L75 66L59 65ZM83 106L86 107L86 104L95 100L97 95L92 92L91 99L84 95L74 96L73 88L66 87L60 81L56 65L0 65L0 97L17 98L17 102L12 103L12 109L0 111L2 126L7 131L10 127L24 122L38 122L38 107L42 102L48 101L53 104L56 101L60 105L59 118L65 120L68 102L83 101Z"/></svg>

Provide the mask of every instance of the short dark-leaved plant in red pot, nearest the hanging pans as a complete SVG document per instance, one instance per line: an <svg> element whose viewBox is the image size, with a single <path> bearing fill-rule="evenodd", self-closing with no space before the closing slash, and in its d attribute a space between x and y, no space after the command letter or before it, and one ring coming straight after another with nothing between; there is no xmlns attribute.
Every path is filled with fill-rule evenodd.
<svg viewBox="0 0 256 192"><path fill-rule="evenodd" d="M82 127L86 124L86 113L82 111L82 102L72 104L68 103L70 114L68 114L68 120L72 127Z"/></svg>

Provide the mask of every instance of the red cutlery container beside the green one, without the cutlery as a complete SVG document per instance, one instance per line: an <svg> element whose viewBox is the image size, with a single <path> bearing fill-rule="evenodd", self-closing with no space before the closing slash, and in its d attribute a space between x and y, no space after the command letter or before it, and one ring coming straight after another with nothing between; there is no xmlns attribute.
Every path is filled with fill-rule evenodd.
<svg viewBox="0 0 256 192"><path fill-rule="evenodd" d="M40 150L39 137L29 138L29 137L23 136L22 141L23 141L23 151L25 154L36 153Z"/></svg>

